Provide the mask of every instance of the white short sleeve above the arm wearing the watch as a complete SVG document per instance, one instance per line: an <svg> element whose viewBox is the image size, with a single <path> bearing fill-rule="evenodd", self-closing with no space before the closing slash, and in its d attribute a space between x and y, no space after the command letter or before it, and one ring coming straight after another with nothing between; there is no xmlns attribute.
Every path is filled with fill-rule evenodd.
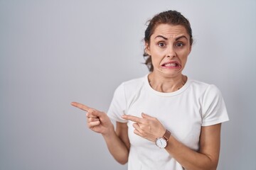
<svg viewBox="0 0 256 170"><path fill-rule="evenodd" d="M209 85L203 95L202 118L202 126L215 125L229 120L223 96L215 85Z"/></svg>

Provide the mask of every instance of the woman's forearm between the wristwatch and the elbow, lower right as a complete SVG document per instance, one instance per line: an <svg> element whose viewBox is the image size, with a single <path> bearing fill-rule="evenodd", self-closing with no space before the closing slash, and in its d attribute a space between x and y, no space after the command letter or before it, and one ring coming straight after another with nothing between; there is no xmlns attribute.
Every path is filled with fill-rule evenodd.
<svg viewBox="0 0 256 170"><path fill-rule="evenodd" d="M188 170L211 170L216 169L218 165L218 157L211 157L200 152L196 152L181 142L178 142L174 137L170 137L166 151L171 154L177 162Z"/></svg>

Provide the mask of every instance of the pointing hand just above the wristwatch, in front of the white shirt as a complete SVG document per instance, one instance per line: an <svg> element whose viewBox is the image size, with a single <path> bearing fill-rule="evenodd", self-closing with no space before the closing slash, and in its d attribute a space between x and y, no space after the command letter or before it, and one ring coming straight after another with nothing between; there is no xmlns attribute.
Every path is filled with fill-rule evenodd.
<svg viewBox="0 0 256 170"><path fill-rule="evenodd" d="M134 133L152 142L155 142L157 137L162 137L166 131L157 118L145 113L142 113L142 118L133 115L123 115L122 118L135 122Z"/></svg>

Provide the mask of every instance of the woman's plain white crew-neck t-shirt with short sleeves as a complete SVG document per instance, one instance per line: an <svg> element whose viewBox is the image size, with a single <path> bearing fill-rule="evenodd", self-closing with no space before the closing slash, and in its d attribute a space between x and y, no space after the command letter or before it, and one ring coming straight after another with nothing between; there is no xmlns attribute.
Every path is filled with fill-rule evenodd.
<svg viewBox="0 0 256 170"><path fill-rule="evenodd" d="M228 113L218 88L201 81L188 79L186 84L171 93L161 93L151 88L148 75L122 83L114 92L108 111L112 120L127 123L131 143L129 170L183 169L165 149L154 142L134 134L132 121L122 115L139 118L146 113L157 118L176 140L197 151L202 126L228 121Z"/></svg>

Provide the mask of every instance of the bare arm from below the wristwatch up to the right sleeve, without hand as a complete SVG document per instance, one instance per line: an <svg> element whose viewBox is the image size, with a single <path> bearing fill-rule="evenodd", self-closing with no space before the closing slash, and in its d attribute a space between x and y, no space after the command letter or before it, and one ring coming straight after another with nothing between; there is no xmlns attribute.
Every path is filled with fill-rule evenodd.
<svg viewBox="0 0 256 170"><path fill-rule="evenodd" d="M220 127L221 124L202 127L198 152L178 142L173 136L169 138L166 151L186 169L217 169Z"/></svg>

